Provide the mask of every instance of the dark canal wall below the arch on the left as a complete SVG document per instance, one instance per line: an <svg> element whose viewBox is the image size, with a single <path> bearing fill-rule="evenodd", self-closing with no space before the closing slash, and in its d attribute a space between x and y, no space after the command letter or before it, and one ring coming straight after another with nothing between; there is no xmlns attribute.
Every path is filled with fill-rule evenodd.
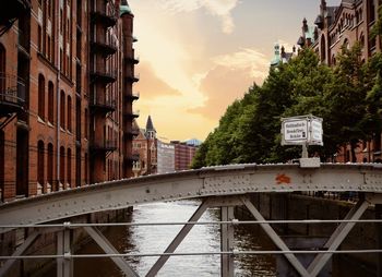
<svg viewBox="0 0 382 277"><path fill-rule="evenodd" d="M71 224L106 224L116 222L117 220L123 220L123 218L131 213L132 208L100 212L94 214L87 214L83 216L70 218ZM61 221L52 221L49 224L60 224ZM41 229L44 230L44 229ZM27 238L27 234L32 232L32 229L19 229L2 233L0 237L0 251L1 255L11 255L15 249L21 245ZM72 238L72 252L76 252L82 245L86 244L91 238L84 231L83 228L73 229L71 232ZM56 255L57 254L57 239L56 232L43 233L32 246L24 253L24 255ZM4 262L4 261L2 261ZM38 260L19 260L14 263L12 268L7 273L7 277L19 276L47 276L46 273L52 272L52 267L56 267L55 258L38 258Z"/></svg>

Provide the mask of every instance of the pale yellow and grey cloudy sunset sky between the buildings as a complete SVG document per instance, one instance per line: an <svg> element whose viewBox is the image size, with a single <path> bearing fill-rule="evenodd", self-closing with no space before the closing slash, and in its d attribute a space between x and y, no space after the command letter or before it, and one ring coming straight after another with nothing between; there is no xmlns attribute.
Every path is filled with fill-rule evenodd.
<svg viewBox="0 0 382 277"><path fill-rule="evenodd" d="M320 0L129 0L140 63L138 123L164 141L205 140L227 107L267 76L274 45L291 51ZM330 0L337 5L341 0Z"/></svg>

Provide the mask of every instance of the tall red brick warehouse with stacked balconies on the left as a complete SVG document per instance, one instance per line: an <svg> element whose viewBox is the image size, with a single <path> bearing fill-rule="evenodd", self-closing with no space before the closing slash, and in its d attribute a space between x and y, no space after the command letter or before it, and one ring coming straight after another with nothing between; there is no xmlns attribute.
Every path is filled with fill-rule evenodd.
<svg viewBox="0 0 382 277"><path fill-rule="evenodd" d="M1 201L132 176L127 1L2 1L0 35Z"/></svg>

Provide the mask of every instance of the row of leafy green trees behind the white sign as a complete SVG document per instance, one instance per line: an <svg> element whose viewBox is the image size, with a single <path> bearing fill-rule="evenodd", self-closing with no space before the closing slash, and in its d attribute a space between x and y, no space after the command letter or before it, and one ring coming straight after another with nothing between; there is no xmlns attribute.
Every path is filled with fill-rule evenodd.
<svg viewBox="0 0 382 277"><path fill-rule="evenodd" d="M382 58L363 64L358 45L343 49L335 69L302 49L289 63L272 68L262 86L253 85L230 105L219 125L201 145L192 168L236 162L285 162L301 147L280 145L280 118L323 118L324 147L310 147L330 159L342 145L353 150L360 140L382 130ZM355 157L355 155L353 155Z"/></svg>

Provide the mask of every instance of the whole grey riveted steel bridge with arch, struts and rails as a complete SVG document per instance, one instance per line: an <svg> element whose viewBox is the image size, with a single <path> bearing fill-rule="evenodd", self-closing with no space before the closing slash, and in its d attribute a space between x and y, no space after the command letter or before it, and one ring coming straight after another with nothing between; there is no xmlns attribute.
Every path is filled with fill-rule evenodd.
<svg viewBox="0 0 382 277"><path fill-rule="evenodd" d="M283 192L358 192L358 203L349 210L330 237L323 250L310 251L317 254L313 262L303 266L296 257L298 252L291 251L276 233L259 209L249 200L253 193ZM203 213L211 207L220 207L220 252L194 253L218 254L222 261L222 276L234 276L234 256L240 254L283 254L290 265L301 276L317 276L334 253L341 253L338 246L371 205L382 204L382 165L380 164L320 164L311 159L300 159L300 164L277 165L229 165L181 171L167 174L154 174L117 181L108 181L83 188L55 192L36 197L4 203L0 206L0 232L15 228L28 228L28 237L11 256L1 256L7 261L0 268L3 276L16 260L38 258L43 256L26 256L25 251L44 232L57 233L57 255L44 257L57 258L57 276L72 275L72 258L70 231L84 228L96 243L105 251L127 276L139 276L123 258L131 253L118 253L110 242L97 229L97 225L71 224L70 218L95 212L121 209L152 202L176 201L186 198L202 198L202 204L191 216L168 245L164 253L151 253L158 260L146 276L155 276L166 261L179 253L174 253L188 232L198 222ZM277 251L252 251L238 253L232 250L234 226L246 224L235 218L234 207L246 206L253 215L253 224L259 224L277 246ZM57 220L64 220L57 224ZM55 224L52 224L55 221ZM373 220L378 221L378 220ZM288 221L280 221L288 222ZM318 224L309 219L295 220L299 224ZM359 250L359 253L381 253L381 250ZM354 252L357 252L356 250ZM300 252L307 253L307 252ZM191 253L183 253L191 254ZM142 254L143 255L143 254ZM99 255L98 255L99 256Z"/></svg>

